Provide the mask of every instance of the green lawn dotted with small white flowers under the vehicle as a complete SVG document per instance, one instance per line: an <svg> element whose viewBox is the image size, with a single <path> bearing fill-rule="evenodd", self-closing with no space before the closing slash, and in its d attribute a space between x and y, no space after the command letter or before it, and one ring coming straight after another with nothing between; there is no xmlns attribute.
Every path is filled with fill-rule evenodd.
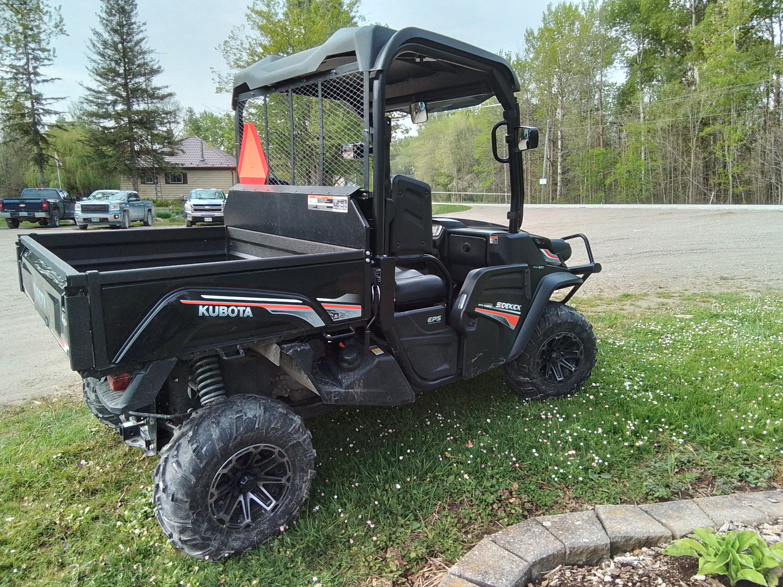
<svg viewBox="0 0 783 587"><path fill-rule="evenodd" d="M298 523L214 564L158 528L157 459L78 404L4 409L0 585L410 585L428 558L530 515L783 481L783 296L601 309L618 302L588 312L601 352L572 398L521 402L494 372L309 420L317 476Z"/></svg>

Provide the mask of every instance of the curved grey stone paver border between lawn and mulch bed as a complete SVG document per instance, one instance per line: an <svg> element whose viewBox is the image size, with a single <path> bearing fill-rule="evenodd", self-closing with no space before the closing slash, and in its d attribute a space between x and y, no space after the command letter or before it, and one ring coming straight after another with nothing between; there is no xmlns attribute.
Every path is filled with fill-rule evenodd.
<svg viewBox="0 0 783 587"><path fill-rule="evenodd" d="M781 517L783 490L776 489L530 518L486 536L451 567L440 587L525 587L561 564L594 565L610 554L682 538L694 528Z"/></svg>

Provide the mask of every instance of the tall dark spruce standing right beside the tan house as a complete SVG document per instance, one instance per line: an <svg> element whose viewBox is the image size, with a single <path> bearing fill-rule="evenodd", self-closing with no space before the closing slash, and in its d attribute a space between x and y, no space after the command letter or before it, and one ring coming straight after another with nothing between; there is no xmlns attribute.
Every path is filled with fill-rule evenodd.
<svg viewBox="0 0 783 587"><path fill-rule="evenodd" d="M166 170L173 155L175 108L168 86L156 85L162 68L139 23L135 0L103 0L100 28L92 29L85 87L88 140L110 171L131 178L139 189L144 171Z"/></svg>

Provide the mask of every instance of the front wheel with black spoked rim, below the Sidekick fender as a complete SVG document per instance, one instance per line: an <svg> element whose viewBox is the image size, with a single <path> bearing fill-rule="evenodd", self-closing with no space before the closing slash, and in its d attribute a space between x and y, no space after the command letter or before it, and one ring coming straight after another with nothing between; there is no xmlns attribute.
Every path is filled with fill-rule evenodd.
<svg viewBox="0 0 783 587"><path fill-rule="evenodd" d="M583 315L550 301L525 350L503 366L506 381L523 398L572 394L590 379L598 351L595 338Z"/></svg>

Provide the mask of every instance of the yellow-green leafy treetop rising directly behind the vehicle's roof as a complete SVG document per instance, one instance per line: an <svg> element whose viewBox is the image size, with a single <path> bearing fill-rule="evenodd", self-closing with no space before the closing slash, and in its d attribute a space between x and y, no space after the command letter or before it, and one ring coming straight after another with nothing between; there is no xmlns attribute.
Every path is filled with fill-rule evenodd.
<svg viewBox="0 0 783 587"><path fill-rule="evenodd" d="M230 92L233 72L269 55L286 56L322 45L337 29L364 20L360 0L253 0L246 25L234 27L218 45L232 73L213 71L218 92Z"/></svg>

